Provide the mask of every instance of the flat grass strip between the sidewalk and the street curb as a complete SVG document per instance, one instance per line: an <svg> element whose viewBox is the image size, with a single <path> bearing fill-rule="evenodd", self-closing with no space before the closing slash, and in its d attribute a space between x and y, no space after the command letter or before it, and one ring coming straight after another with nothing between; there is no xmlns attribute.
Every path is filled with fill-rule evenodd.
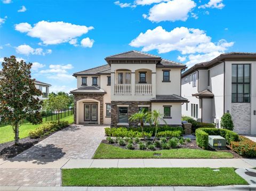
<svg viewBox="0 0 256 191"><path fill-rule="evenodd" d="M234 168L62 169L62 186L247 185Z"/></svg>

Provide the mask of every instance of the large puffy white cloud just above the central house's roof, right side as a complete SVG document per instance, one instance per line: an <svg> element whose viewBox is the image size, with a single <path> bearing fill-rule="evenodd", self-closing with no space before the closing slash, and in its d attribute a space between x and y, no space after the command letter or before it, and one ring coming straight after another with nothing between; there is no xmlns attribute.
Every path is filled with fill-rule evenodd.
<svg viewBox="0 0 256 191"><path fill-rule="evenodd" d="M166 31L161 26L147 30L144 34L133 39L130 46L142 47L142 51L157 49L158 53L179 51L181 54L210 53L213 51L224 52L234 42L228 43L225 39L217 43L211 41L205 31L200 29L177 27Z"/></svg>

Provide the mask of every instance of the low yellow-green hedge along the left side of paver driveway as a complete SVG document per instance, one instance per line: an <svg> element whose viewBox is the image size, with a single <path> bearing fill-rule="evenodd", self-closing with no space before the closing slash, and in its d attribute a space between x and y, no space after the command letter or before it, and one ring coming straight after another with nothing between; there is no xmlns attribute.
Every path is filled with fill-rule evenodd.
<svg viewBox="0 0 256 191"><path fill-rule="evenodd" d="M50 135L52 132L61 130L65 127L68 127L68 121L60 121L58 124L58 121L48 121L42 124L42 126L39 126L35 130L32 130L29 132L30 138L40 138L47 135Z"/></svg>

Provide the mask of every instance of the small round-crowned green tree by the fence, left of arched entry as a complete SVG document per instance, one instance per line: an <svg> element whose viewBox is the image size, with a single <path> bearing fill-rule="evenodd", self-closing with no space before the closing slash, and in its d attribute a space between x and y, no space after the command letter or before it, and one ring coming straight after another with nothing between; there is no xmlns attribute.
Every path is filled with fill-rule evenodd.
<svg viewBox="0 0 256 191"><path fill-rule="evenodd" d="M48 99L45 99L43 109L46 111L57 111L58 124L60 123L60 111L67 110L69 107L70 99L68 95L50 94Z"/></svg>

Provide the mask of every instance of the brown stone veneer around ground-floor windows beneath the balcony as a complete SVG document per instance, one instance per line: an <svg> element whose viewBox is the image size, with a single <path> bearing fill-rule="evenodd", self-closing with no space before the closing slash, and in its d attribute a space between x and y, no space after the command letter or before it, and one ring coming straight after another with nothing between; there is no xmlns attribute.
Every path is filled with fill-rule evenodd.
<svg viewBox="0 0 256 191"><path fill-rule="evenodd" d="M118 107L117 105L129 105L128 107L128 122L129 126L138 126L139 121L130 122L129 118L132 114L139 112L138 105L150 105L148 111L151 111L151 102L124 102L124 101L112 101L111 102L111 127L117 127L118 123Z"/></svg>

